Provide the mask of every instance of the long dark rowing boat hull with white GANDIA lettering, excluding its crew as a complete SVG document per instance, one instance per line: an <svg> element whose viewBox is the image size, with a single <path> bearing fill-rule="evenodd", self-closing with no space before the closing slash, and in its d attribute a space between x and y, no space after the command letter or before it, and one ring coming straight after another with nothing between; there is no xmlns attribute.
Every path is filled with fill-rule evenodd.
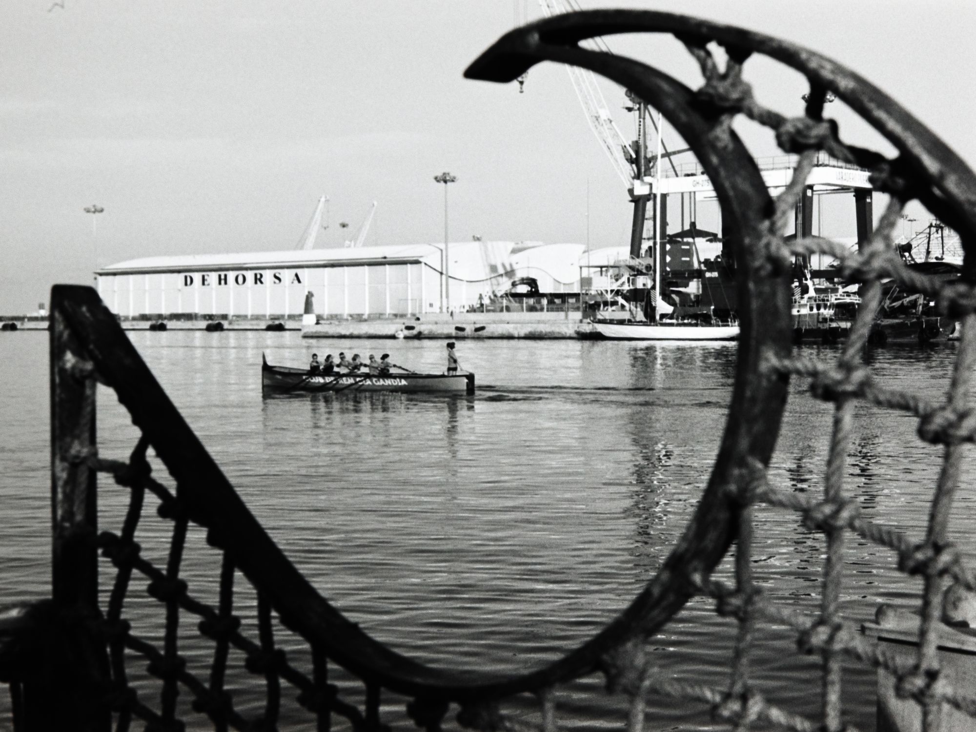
<svg viewBox="0 0 976 732"><path fill-rule="evenodd" d="M400 393L474 393L474 374L312 374L307 369L271 366L262 354L261 386L265 391L398 391Z"/></svg>

